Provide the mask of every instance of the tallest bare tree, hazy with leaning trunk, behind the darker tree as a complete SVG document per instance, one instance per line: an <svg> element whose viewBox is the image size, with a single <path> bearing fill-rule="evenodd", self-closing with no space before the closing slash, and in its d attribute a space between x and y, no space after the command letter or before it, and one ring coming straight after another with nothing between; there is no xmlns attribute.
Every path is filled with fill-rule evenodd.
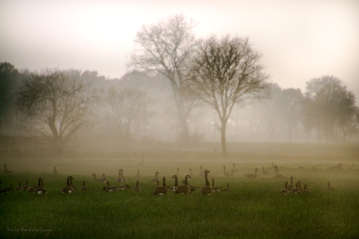
<svg viewBox="0 0 359 239"><path fill-rule="evenodd" d="M177 107L183 140L188 142L188 115L193 106L183 95L185 66L191 56L195 41L193 21L187 22L183 15L175 15L167 21L143 25L137 32L138 46L132 55L131 65L139 70L156 71L167 77Z"/></svg>

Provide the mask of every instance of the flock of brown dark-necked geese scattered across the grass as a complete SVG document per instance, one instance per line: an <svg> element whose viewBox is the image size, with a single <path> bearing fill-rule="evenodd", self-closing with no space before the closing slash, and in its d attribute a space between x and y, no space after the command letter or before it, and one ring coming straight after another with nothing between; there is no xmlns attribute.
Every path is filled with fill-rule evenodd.
<svg viewBox="0 0 359 239"><path fill-rule="evenodd" d="M143 164L143 161L142 161ZM223 176L224 177L231 177L233 176L234 172L238 172L238 170L236 169L236 164L233 163L233 168L231 169L231 172L227 172L225 170L225 166L223 165ZM283 175L280 175L278 173L278 166L274 165L274 163L272 162L272 167L274 168L274 172L275 172L275 178L286 178ZM352 167L354 167L354 164L352 165ZM341 168L341 164L338 164L335 168ZM334 168L330 168L330 169L334 169ZM244 175L245 177L248 178L257 178L257 171L259 169L255 168L254 173L252 174L248 174L248 175ZM215 180L214 178L211 178L211 184L208 180L208 173L210 173L209 170L202 170L202 166L200 166L200 174L198 176L195 176L192 173L192 169L189 169L190 173L188 175L185 176L185 180L182 180L182 184L178 184L178 175L179 175L179 168L177 168L177 173L175 175L173 175L171 178L174 179L174 186L167 186L166 185L166 177L162 178L162 185L159 185L160 179L158 177L159 172L155 172L155 177L152 178L150 180L150 182L156 182L157 186L155 187L154 190L154 194L155 195L165 195L168 193L168 191L173 191L173 193L182 193L185 195L190 194L191 192L195 191L195 190L199 190L200 189L200 193L202 195L212 195L213 192L219 192L219 187L215 186ZM137 176L139 175L139 170L137 171ZM8 169L6 169L6 164L4 164L4 174L11 174L12 172L9 171ZM52 174L54 175L58 175L59 173L56 171L56 167L53 167L53 171ZM262 167L262 174L263 175L267 175L269 174L269 172L264 170L264 167ZM104 174L102 175L102 177L100 178L96 178L96 174L93 173L93 180L94 181L99 181L99 182L104 182L106 183L107 186L103 186L103 191L104 192L115 192L118 190L129 190L130 186L127 184L121 184L121 185L117 185L117 186L110 186L109 185L109 178L106 177ZM205 178L205 183L206 185L204 187L197 187L194 185L191 185L188 183L188 178L193 178L193 177L203 177ZM298 181L297 183L295 183L295 186L293 184L293 179L294 177L290 177L290 183L288 181L285 182L285 189L282 189L281 191L279 191L280 195L287 195L289 193L303 193L303 194L311 194L311 191L308 189L308 185L305 183L304 187L302 188L301 186L301 182ZM73 194L75 190L77 190L77 187L75 185L73 185L73 180L74 178L72 176L68 176L67 177L67 185L65 185L64 187L62 187L61 192L64 194ZM122 182L127 182L127 179L125 176L123 176L123 169L119 169L118 170L118 177L116 178L116 183L122 183ZM137 180L136 181L136 186L132 188L132 191L138 192L141 191L141 188L139 186L140 181ZM1 185L1 181L0 181L0 185ZM85 182L83 182L83 186L80 187L81 191L87 191L87 187L85 186ZM35 195L46 195L47 194L47 189L46 187L43 186L43 179L42 178L38 178L38 185L36 187L30 187L28 185L28 180L26 179L26 185L21 186L21 182L19 182L19 186L14 188L13 185L10 185L6 188L1 188L0 187L0 193L6 193L9 191L23 191L23 190L27 190L31 193L34 193ZM230 187L229 187L229 183L227 183L227 187L222 188L221 191L230 191ZM330 185L330 182L327 182L327 191L335 191L335 188L332 187Z"/></svg>

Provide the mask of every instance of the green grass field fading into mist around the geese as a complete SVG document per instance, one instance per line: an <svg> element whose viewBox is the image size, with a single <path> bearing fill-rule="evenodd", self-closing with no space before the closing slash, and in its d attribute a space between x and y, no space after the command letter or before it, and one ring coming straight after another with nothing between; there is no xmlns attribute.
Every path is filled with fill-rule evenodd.
<svg viewBox="0 0 359 239"><path fill-rule="evenodd" d="M297 145L298 146L298 145ZM296 147L297 147L296 146ZM315 152L313 146L311 146ZM0 174L1 187L18 181L30 186L42 177L46 196L28 192L0 195L1 238L358 238L359 237L359 171L349 170L351 163L359 168L358 147L342 148L346 154L326 155L321 152L298 156L297 153L232 152L221 157L216 152L137 152L111 156L78 156L63 158L3 157L13 174ZM328 147L332 150L333 147ZM340 147L339 147L340 148ZM303 149L305 150L305 148ZM266 151L265 149L263 151ZM300 151L300 146L298 146ZM139 166L144 158L144 165ZM302 186L308 184L312 195L279 195L285 180L274 178L271 162L279 173L293 176ZM223 177L223 167L230 171L236 163L238 172ZM344 169L326 168L342 163ZM59 175L52 175L56 166ZM180 180L192 168L209 169L215 185L230 183L232 191L202 196L199 190L188 196L169 192L155 196L155 184L149 182L159 171L173 185L171 176L180 168ZM270 175L258 171L256 179L243 175L264 166ZM304 169L299 169L303 166ZM315 167L315 168L312 168ZM123 168L131 189L140 181L141 192L117 191L105 193L104 183L93 181L92 173L105 173L111 185L116 185L117 170ZM135 176L137 169L140 177ZM78 188L82 181L87 192L75 191L62 195L66 177L75 178ZM189 183L204 186L202 177L190 178ZM326 182L336 188L326 191ZM12 230L13 229L13 230ZM32 229L32 231L25 231ZM38 229L38 231L33 231ZM43 231L41 231L41 229ZM19 231L17 231L19 230Z"/></svg>

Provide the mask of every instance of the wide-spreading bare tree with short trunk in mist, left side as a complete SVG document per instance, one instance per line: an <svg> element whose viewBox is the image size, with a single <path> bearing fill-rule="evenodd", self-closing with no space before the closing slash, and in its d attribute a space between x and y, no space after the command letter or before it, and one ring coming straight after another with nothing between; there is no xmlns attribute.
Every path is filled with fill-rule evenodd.
<svg viewBox="0 0 359 239"><path fill-rule="evenodd" d="M31 134L51 136L54 153L61 153L69 138L90 124L98 101L92 82L80 71L47 70L25 78L17 96L19 109Z"/></svg>

